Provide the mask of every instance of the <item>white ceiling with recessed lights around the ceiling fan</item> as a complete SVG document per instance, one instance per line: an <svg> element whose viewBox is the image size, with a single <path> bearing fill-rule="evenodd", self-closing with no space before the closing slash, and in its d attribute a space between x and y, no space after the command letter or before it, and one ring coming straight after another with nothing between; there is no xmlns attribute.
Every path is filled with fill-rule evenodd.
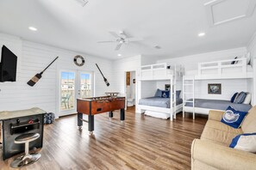
<svg viewBox="0 0 256 170"><path fill-rule="evenodd" d="M227 1L232 12L237 11L244 0L239 3L226 0L225 6ZM77 0L0 0L0 31L110 59L138 54L173 58L247 46L256 31L256 12L247 18L210 27L203 5L208 2L89 0L82 7ZM245 9L246 4L242 8ZM228 16L227 9L217 11L219 18ZM28 30L29 26L37 27L38 31ZM117 52L115 43L97 43L113 39L109 31L120 30L144 40L124 45ZM206 35L199 38L200 32ZM156 45L161 49L155 49ZM117 57L118 53L122 57Z"/></svg>

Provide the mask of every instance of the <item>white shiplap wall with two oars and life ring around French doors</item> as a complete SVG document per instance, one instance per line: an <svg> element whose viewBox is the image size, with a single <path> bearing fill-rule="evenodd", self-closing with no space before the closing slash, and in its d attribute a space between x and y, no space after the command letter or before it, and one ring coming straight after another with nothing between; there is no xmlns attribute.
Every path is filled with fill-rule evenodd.
<svg viewBox="0 0 256 170"><path fill-rule="evenodd" d="M0 111L27 109L38 106L47 112L55 112L58 117L58 89L59 70L87 70L95 73L95 94L103 95L112 91L112 61L103 58L94 58L80 52L72 52L53 46L45 46L19 39L14 36L0 34L0 45L6 45L19 58L19 68L16 82L0 82ZM78 67L73 64L75 55L82 55L85 64ZM28 80L36 73L41 72L53 58L59 59L43 74L41 80L34 87L27 85ZM110 82L107 87L103 77L95 64L102 69L104 76Z"/></svg>

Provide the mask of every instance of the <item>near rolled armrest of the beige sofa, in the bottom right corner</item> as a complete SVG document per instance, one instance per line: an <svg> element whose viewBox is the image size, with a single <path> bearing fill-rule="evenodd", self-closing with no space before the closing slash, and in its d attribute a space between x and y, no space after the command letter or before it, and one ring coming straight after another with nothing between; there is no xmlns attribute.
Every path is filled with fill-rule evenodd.
<svg viewBox="0 0 256 170"><path fill-rule="evenodd" d="M200 139L191 146L192 169L196 160L216 169L256 169L255 154Z"/></svg>

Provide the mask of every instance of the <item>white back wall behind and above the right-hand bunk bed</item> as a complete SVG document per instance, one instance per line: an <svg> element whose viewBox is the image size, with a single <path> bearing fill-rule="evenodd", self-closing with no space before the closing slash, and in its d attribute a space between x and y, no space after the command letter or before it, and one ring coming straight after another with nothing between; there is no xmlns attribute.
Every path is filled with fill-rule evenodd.
<svg viewBox="0 0 256 170"><path fill-rule="evenodd" d="M208 52L192 56L184 56L181 58L168 58L158 60L157 63L167 63L173 66L174 64L182 64L184 70L197 70L197 64L201 62L211 62L223 59L232 59L236 56L240 57L247 53L246 47L229 49L219 52ZM208 94L208 83L222 83L222 94ZM249 85L248 85L249 84ZM159 86L163 86L160 85ZM252 91L250 82L247 79L239 80L205 80L195 83L195 97L202 99L218 99L230 100L235 92Z"/></svg>

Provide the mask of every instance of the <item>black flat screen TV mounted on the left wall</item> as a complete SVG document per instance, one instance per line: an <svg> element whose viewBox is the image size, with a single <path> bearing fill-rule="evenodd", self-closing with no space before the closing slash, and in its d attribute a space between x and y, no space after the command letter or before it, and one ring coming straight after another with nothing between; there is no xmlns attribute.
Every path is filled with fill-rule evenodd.
<svg viewBox="0 0 256 170"><path fill-rule="evenodd" d="M2 47L0 82L16 82L17 57L6 46Z"/></svg>

